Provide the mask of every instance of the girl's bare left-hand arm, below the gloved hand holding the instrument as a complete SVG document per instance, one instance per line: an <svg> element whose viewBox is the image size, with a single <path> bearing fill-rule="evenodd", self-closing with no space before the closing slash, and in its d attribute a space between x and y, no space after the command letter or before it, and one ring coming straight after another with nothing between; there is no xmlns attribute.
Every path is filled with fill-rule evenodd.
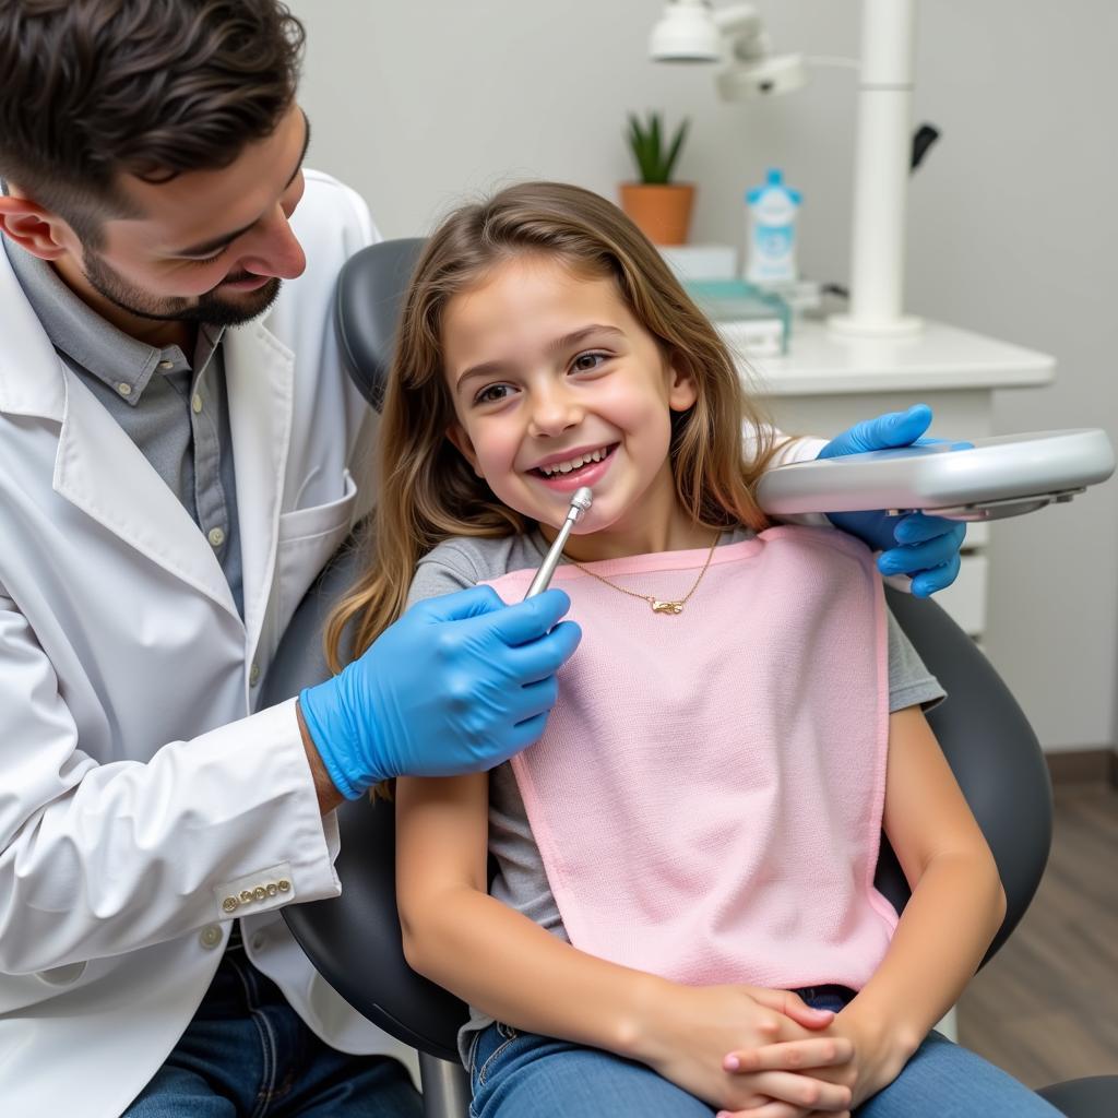
<svg viewBox="0 0 1118 1118"><path fill-rule="evenodd" d="M722 1068L729 1049L761 1044L793 1051L793 1067L840 1064L851 1055L846 1040L793 1020L818 1030L830 1014L784 992L681 986L607 963L487 896L487 774L401 778L396 799L404 951L420 974L498 1021L641 1060L716 1106L776 1098L798 1116L849 1105L844 1084Z"/></svg>

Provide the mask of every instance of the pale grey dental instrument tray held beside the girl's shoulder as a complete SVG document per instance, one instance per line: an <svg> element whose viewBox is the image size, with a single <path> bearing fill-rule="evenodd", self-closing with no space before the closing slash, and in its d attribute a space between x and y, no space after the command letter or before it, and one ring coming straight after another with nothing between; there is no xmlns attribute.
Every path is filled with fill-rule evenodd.
<svg viewBox="0 0 1118 1118"><path fill-rule="evenodd" d="M999 520L1070 501L1114 470L1106 432L1046 430L795 462L767 471L757 498L777 517L888 509Z"/></svg>

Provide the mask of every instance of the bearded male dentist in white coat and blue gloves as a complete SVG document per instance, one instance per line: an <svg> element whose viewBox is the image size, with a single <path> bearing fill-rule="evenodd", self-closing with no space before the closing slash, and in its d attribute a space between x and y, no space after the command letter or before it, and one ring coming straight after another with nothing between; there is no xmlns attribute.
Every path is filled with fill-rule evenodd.
<svg viewBox="0 0 1118 1118"><path fill-rule="evenodd" d="M302 36L277 0L0 0L12 1118L418 1114L406 1050L278 910L339 892L343 796L533 741L578 641L558 590L510 608L471 590L313 689L309 720L295 700L258 709L293 610L372 499L353 479L373 417L331 301L377 234L303 169ZM884 417L825 453L926 426ZM880 518L850 529L929 593L959 538L908 523L902 548Z"/></svg>

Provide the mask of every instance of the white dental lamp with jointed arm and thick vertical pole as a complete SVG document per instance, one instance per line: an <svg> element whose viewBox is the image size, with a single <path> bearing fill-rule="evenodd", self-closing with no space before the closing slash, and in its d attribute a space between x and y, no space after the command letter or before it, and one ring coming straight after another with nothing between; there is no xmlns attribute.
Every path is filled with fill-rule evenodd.
<svg viewBox="0 0 1118 1118"><path fill-rule="evenodd" d="M808 64L860 70L850 307L828 325L856 338L918 333L920 320L902 311L916 0L863 0L860 63L774 55L752 4L714 8L710 0L669 0L648 53L655 61L729 61L717 79L726 101L798 89Z"/></svg>

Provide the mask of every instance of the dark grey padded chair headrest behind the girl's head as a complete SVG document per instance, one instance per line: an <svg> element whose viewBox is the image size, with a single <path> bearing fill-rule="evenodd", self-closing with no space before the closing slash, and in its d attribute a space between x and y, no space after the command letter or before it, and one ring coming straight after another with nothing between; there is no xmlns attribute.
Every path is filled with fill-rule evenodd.
<svg viewBox="0 0 1118 1118"><path fill-rule="evenodd" d="M382 240L354 253L338 276L334 321L342 360L361 395L379 411L404 295L426 240Z"/></svg>

